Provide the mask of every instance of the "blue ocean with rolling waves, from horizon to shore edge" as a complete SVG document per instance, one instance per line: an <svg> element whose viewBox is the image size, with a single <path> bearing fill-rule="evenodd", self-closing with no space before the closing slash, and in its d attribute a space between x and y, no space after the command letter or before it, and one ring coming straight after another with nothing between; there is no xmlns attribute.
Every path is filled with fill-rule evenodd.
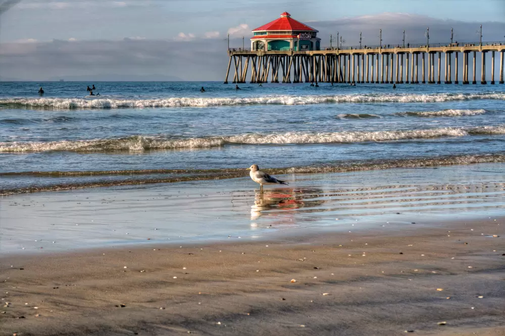
<svg viewBox="0 0 505 336"><path fill-rule="evenodd" d="M239 87L1 82L0 195L505 161L502 85Z"/></svg>

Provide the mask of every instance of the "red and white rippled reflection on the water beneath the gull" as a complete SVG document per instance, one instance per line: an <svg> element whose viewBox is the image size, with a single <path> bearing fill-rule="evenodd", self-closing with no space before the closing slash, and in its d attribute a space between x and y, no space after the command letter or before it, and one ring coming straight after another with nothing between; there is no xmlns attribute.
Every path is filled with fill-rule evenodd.
<svg viewBox="0 0 505 336"><path fill-rule="evenodd" d="M255 220L267 210L295 210L303 207L313 207L324 203L324 200L310 200L322 196L322 190L315 189L271 189L255 193L255 204L251 206L251 220ZM272 211L269 215L285 215L284 212ZM293 212L294 214L294 212Z"/></svg>

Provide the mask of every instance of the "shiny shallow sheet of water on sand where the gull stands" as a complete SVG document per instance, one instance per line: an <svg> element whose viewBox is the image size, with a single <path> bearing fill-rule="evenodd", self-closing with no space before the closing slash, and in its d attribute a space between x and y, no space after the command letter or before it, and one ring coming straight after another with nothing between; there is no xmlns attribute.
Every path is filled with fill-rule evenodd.
<svg viewBox="0 0 505 336"><path fill-rule="evenodd" d="M505 213L502 163L280 177L289 186L263 198L249 178L4 197L0 252L394 232Z"/></svg>

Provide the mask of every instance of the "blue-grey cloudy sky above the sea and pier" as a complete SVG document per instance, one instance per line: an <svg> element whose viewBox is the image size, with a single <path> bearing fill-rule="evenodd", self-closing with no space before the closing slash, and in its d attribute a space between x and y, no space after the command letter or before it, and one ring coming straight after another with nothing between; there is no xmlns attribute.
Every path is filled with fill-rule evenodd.
<svg viewBox="0 0 505 336"><path fill-rule="evenodd" d="M0 0L0 5L6 0ZM505 0L21 0L0 16L2 80L221 80L231 46L288 11L329 45L505 40Z"/></svg>

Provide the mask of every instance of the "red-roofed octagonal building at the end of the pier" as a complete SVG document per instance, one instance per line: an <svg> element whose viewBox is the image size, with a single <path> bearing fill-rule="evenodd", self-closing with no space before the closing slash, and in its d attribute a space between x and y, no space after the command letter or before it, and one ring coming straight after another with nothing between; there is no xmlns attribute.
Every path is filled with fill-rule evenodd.
<svg viewBox="0 0 505 336"><path fill-rule="evenodd" d="M306 24L291 19L288 12L281 17L252 31L251 50L298 51L319 50L321 39L318 31Z"/></svg>

